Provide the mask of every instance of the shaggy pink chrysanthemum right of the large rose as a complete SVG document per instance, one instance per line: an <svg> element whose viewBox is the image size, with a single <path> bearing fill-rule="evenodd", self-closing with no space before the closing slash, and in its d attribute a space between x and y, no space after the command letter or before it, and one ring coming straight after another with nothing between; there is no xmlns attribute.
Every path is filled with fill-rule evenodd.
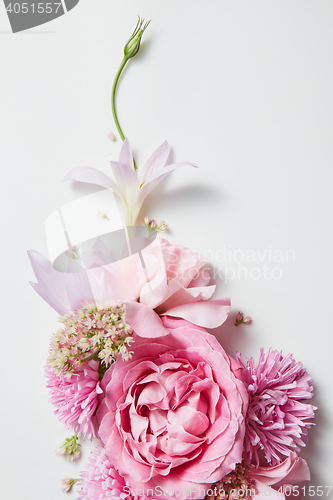
<svg viewBox="0 0 333 500"><path fill-rule="evenodd" d="M311 377L291 354L269 350L265 356L260 350L257 367L253 358L245 366L240 353L237 359L244 368L250 404L246 418L244 460L255 458L259 464L259 450L271 465L279 464L281 455L289 456L292 450L305 446L307 429L314 425L315 406L303 400L312 397Z"/></svg>

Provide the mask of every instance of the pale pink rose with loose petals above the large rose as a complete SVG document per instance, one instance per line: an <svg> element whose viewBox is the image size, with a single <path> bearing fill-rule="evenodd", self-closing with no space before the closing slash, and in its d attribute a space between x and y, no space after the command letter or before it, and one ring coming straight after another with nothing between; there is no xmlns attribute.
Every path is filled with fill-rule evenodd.
<svg viewBox="0 0 333 500"><path fill-rule="evenodd" d="M91 269L88 276L97 300L107 296L127 302L126 321L137 335L160 337L167 332L159 316L180 317L205 328L216 328L227 319L229 298L208 301L216 288L209 285L208 263L189 248L157 238L141 256L135 253Z"/></svg>

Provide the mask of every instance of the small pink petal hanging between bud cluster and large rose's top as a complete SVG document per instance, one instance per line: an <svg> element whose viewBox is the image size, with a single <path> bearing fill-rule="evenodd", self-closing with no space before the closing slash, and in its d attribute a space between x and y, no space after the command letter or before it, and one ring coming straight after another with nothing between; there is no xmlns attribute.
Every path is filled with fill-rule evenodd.
<svg viewBox="0 0 333 500"><path fill-rule="evenodd" d="M138 302L125 304L126 323L139 337L157 338L168 335L160 317L150 307Z"/></svg>

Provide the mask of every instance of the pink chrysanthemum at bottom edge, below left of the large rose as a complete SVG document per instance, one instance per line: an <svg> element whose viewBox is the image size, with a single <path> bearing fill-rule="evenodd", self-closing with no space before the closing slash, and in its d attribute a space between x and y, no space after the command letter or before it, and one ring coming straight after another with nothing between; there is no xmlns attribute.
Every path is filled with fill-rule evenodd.
<svg viewBox="0 0 333 500"><path fill-rule="evenodd" d="M104 446L97 445L87 465L88 470L80 474L82 481L77 500L133 500L125 479L111 467ZM140 497L140 500L145 499Z"/></svg>

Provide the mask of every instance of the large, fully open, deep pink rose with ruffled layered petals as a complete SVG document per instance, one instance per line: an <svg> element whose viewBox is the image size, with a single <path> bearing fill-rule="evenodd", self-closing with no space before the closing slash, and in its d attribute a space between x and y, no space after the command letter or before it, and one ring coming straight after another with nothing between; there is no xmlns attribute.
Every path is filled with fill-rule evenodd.
<svg viewBox="0 0 333 500"><path fill-rule="evenodd" d="M132 359L106 372L99 434L136 492L203 498L242 460L247 390L215 337L184 320L162 322L168 335L136 337Z"/></svg>

